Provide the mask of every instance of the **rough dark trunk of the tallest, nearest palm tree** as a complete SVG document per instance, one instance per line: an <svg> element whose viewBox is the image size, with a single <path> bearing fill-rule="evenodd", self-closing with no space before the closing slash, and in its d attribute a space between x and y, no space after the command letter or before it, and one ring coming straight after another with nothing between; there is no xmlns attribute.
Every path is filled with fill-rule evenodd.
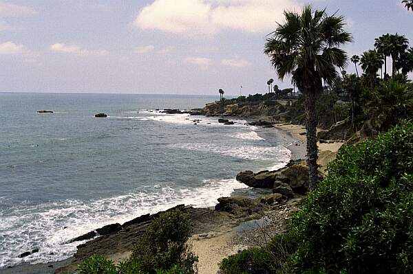
<svg viewBox="0 0 413 274"><path fill-rule="evenodd" d="M315 93L306 93L306 130L307 130L307 163L308 163L308 188L314 190L318 181L318 148L317 148L317 117L315 112Z"/></svg>

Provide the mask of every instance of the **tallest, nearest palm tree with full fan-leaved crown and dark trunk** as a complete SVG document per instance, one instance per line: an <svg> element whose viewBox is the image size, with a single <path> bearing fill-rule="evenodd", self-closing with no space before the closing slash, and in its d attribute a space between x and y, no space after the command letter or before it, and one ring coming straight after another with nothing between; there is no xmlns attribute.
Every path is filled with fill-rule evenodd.
<svg viewBox="0 0 413 274"><path fill-rule="evenodd" d="M352 36L343 30L343 16L328 16L326 10L313 10L310 5L301 14L284 11L284 16L285 23L268 34L264 53L278 77L291 75L305 95L309 188L314 190L318 181L315 102L323 91L322 81L331 83L338 76L336 68L346 65L348 56L339 46L352 41Z"/></svg>

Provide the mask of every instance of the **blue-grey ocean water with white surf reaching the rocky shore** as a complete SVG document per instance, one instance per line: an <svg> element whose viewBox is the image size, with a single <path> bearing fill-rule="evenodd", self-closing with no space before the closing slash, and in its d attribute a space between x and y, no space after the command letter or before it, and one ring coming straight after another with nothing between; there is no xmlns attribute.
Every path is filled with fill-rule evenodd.
<svg viewBox="0 0 413 274"><path fill-rule="evenodd" d="M154 111L217 99L0 93L0 269L68 258L79 242L65 242L109 223L213 206L246 188L237 172L288 162L290 139L276 130ZM43 109L54 113L36 113ZM102 112L109 117L94 117Z"/></svg>

